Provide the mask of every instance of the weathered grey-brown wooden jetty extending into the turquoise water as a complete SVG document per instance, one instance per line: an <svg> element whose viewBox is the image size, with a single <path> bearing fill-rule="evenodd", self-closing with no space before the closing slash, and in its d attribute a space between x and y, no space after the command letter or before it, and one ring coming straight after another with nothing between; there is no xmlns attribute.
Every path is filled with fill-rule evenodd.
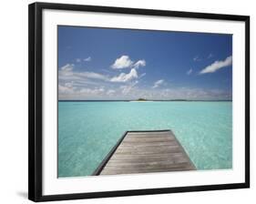
<svg viewBox="0 0 256 204"><path fill-rule="evenodd" d="M171 130L127 131L93 175L195 170Z"/></svg>

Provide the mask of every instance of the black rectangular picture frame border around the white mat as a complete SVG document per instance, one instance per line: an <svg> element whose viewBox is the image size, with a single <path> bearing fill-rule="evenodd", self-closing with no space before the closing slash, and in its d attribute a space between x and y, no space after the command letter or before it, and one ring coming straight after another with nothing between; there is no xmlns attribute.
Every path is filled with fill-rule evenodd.
<svg viewBox="0 0 256 204"><path fill-rule="evenodd" d="M42 195L42 12L44 9L68 11L91 11L128 15L159 15L198 19L231 20L245 23L245 182L189 186L162 189L133 189L104 191L93 193L77 193L63 195ZM250 16L219 15L167 10L149 10L138 8L108 7L94 5L67 5L34 3L28 10L28 199L33 201L50 201L64 199L93 199L105 197L134 196L188 191L243 189L250 188Z"/></svg>

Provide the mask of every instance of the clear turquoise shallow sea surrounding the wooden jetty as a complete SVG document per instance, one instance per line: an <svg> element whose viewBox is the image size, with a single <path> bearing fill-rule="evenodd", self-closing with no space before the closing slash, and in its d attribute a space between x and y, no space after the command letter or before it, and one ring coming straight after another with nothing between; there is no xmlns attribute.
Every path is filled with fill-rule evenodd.
<svg viewBox="0 0 256 204"><path fill-rule="evenodd" d="M154 129L196 168L232 168L231 102L58 102L58 176L91 175L125 131Z"/></svg>

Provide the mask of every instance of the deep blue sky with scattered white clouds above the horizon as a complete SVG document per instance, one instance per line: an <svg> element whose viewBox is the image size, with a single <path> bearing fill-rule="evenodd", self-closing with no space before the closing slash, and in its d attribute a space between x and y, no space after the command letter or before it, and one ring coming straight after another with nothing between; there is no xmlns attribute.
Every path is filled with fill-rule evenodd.
<svg viewBox="0 0 256 204"><path fill-rule="evenodd" d="M59 99L232 98L232 36L58 26Z"/></svg>

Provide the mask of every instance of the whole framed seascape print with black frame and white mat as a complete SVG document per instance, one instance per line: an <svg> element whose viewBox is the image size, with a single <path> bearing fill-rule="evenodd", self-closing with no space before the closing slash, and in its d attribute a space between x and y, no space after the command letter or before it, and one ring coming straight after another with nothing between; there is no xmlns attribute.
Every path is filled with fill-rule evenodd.
<svg viewBox="0 0 256 204"><path fill-rule="evenodd" d="M250 17L29 5L29 199L250 186Z"/></svg>

